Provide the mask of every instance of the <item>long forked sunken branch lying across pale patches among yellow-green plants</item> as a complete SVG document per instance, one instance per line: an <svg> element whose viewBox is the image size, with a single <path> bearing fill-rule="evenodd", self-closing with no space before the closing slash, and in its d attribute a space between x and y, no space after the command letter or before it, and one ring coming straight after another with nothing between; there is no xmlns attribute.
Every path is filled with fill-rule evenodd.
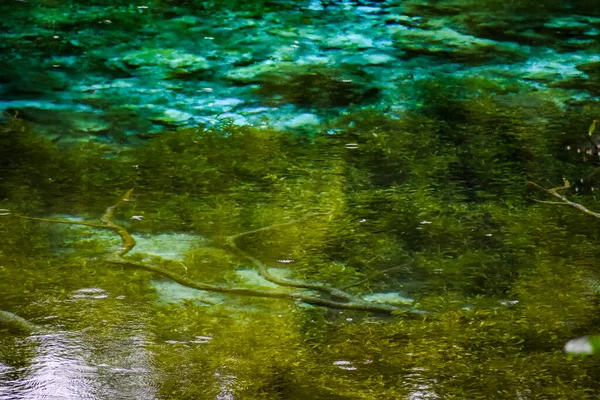
<svg viewBox="0 0 600 400"><path fill-rule="evenodd" d="M344 290L331 287L324 283L318 283L318 282L311 283L311 282L304 282L304 281L296 280L296 279L278 278L269 272L268 268L266 267L266 265L263 262L261 262L260 260L258 260L255 257L251 256L250 254L248 254L247 252L242 250L237 245L237 240L243 236L251 235L251 234L262 232L262 231L277 229L277 228L280 228L283 226L296 224L302 220L305 220L307 218L314 217L314 216L328 215L328 214L324 214L324 213L308 214L308 215L304 216L303 218L300 218L300 219L297 219L294 221L289 221L289 222L282 223L282 224L270 225L270 226L255 229L252 231L247 231L247 232L242 232L242 233L238 233L235 235L231 235L226 238L226 242L233 251L237 252L239 255L241 255L242 257L247 259L252 265L254 265L257 268L260 275L264 279L268 280L269 282L275 283L275 284L277 284L279 286L283 286L283 287L293 287L293 288L298 288L298 289L311 290L313 292L317 292L317 293L326 295L329 298L320 297L317 293L313 293L313 294L306 293L306 292L289 293L289 292L276 291L276 290L257 290L257 289L248 289L248 288L239 288L239 287L237 287L237 288L236 287L228 287L228 286L221 286L221 285L211 285L211 284L207 284L207 283L203 283L203 282L194 281L192 279L186 278L183 275L180 275L173 271L169 271L168 269L162 268L160 266L150 265L150 264L140 263L137 261L130 260L130 259L126 258L125 255L127 253L129 253L135 247L135 245L136 245L135 239L131 236L131 234L127 231L127 229L125 229L124 227L122 227L114 222L114 217L115 217L117 210L120 207L122 207L123 205L125 205L130 200L132 193L133 193L133 189L128 190L125 193L125 195L119 199L119 201L116 204L114 204L106 209L104 215L101 218L103 224L94 224L94 223L88 223L88 222L59 220L59 219L48 219L48 218L36 218L36 217L28 217L28 216L22 216L22 215L14 215L14 214L13 214L13 216L15 216L17 218L23 218L23 219L29 219L29 220L41 221L41 222L51 222L51 223L71 224L71 225L84 225L84 226L89 226L89 227L93 227L93 228L113 230L121 237L123 246L119 249L119 251L115 255L106 257L105 260L107 262L114 264L114 265L119 265L122 267L137 268L137 269L143 269L143 270L146 270L149 272L153 272L158 275L162 275L163 277L169 278L172 281L179 283L180 285L183 285L183 286L186 286L189 288L193 288L193 289L204 290L204 291L208 291L208 292L228 293L228 294L241 295L241 296L255 296L255 297L265 297L265 298L287 299L287 300L297 301L300 303L322 306L322 307L332 308L332 309L372 311L372 312L386 313L386 314L407 313L407 314L415 314L416 315L416 314L423 313L422 311L414 310L409 306L401 307L401 306L396 306L396 305L392 305L392 304L382 304L382 303L374 303L374 302L365 301L365 300L363 300L359 297L356 297ZM8 213L3 214L3 215L8 215Z"/></svg>

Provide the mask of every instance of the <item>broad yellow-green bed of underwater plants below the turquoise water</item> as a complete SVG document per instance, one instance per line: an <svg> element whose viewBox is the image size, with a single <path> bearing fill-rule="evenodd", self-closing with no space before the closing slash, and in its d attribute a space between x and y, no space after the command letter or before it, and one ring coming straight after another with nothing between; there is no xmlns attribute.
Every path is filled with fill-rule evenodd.
<svg viewBox="0 0 600 400"><path fill-rule="evenodd" d="M596 398L600 360L563 347L599 331L600 225L544 202L600 210L580 182L597 159L566 150L597 110L483 85L423 81L405 115L313 136L224 124L131 146L7 118L0 308L144 337L157 398ZM178 257L144 247L165 235ZM173 282L245 294L166 301ZM0 362L28 362L21 335L0 330Z"/></svg>

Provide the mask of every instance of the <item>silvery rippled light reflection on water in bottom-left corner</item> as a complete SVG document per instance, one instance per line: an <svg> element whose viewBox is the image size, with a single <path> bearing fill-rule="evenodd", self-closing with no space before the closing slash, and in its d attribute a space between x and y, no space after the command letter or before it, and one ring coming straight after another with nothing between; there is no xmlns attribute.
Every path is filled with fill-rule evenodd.
<svg viewBox="0 0 600 400"><path fill-rule="evenodd" d="M155 399L144 345L135 336L102 344L83 332L31 336L19 344L34 348L28 366L0 365L0 399Z"/></svg>

